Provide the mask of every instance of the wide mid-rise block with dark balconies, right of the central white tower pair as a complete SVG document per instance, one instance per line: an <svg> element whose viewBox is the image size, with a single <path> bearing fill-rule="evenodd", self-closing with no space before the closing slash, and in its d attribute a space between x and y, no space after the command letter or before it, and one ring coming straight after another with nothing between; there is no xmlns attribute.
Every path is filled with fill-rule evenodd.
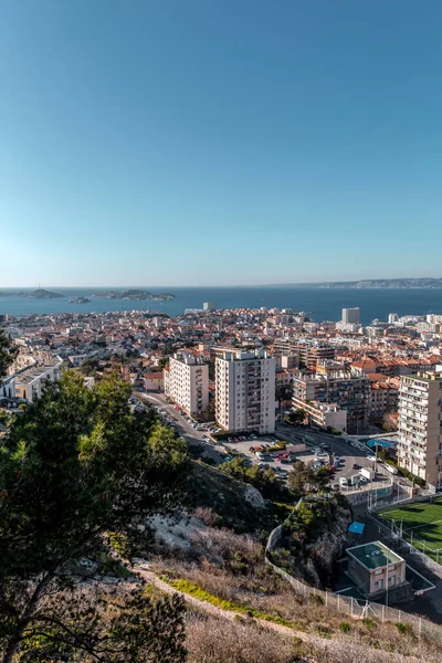
<svg viewBox="0 0 442 663"><path fill-rule="evenodd" d="M306 410L317 401L347 411L347 431L358 433L368 424L370 381L366 376L347 371L336 373L302 373L293 379L293 407Z"/></svg>

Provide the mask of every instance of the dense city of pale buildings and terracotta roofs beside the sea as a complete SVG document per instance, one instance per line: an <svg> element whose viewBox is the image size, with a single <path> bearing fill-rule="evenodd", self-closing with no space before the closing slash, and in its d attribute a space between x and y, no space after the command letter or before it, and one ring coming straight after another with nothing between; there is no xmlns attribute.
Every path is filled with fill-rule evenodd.
<svg viewBox="0 0 442 663"><path fill-rule="evenodd" d="M362 327L358 308L315 323L291 309L204 303L175 318L133 311L3 315L2 324L20 350L1 387L3 407L39 398L62 367L88 366L93 381L118 360L134 390L166 394L219 432L273 434L295 417L337 433L396 433L399 465L439 488L438 436L424 434L410 394L439 389L442 315L391 313ZM438 419L439 410L424 414Z"/></svg>

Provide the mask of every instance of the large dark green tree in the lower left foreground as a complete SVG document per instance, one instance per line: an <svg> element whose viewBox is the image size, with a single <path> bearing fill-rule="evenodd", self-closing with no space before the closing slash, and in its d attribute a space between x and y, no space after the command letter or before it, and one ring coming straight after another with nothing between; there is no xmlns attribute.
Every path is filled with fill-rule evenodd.
<svg viewBox="0 0 442 663"><path fill-rule="evenodd" d="M176 622L168 642L180 651L182 606L165 601L156 608L138 589L118 609L119 599L103 594L92 619L87 591L78 589L82 560L94 560L98 575L116 562L106 533L117 533L130 556L146 545L149 516L170 512L180 496L186 444L154 417L134 415L129 393L116 376L88 390L78 372L67 372L1 441L2 663L181 660L155 657L139 643L155 630L166 638L154 620L156 610L164 611L165 628ZM144 657L130 650L135 642Z"/></svg>

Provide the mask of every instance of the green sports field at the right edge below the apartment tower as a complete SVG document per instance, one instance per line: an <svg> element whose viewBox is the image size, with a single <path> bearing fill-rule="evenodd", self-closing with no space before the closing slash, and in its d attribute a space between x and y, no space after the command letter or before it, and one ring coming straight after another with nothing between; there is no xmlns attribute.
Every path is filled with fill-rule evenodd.
<svg viewBox="0 0 442 663"><path fill-rule="evenodd" d="M383 520L394 522L396 532L418 550L442 562L442 497L378 512Z"/></svg>

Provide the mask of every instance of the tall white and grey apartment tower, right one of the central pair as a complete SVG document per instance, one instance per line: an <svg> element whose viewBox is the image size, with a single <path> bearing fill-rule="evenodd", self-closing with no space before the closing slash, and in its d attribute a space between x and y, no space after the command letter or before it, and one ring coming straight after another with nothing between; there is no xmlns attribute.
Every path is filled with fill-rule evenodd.
<svg viewBox="0 0 442 663"><path fill-rule="evenodd" d="M231 433L275 431L275 358L266 350L217 349L215 418Z"/></svg>

